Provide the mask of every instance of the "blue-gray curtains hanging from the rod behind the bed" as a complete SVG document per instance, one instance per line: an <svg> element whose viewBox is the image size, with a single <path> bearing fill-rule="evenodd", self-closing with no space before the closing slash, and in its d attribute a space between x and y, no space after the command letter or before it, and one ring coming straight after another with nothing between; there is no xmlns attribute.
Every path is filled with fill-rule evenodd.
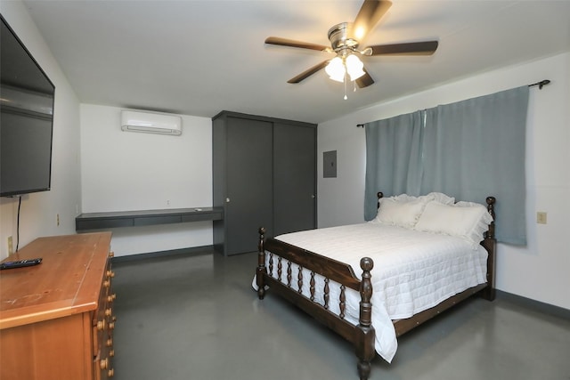
<svg viewBox="0 0 570 380"><path fill-rule="evenodd" d="M499 241L515 245L526 244L525 231L525 133L528 107L528 86L493 93L438 106L425 110L425 118L419 117L422 132L420 141L411 141L407 152L398 152L393 158L387 158L390 141L375 143L366 134L366 220L371 220L376 211L376 201L371 201L368 194L376 191L385 193L408 193L411 195L427 194L431 191L444 192L460 200L483 202L492 195L497 198L495 222L496 237ZM410 115L415 115L414 112ZM405 139L406 129L413 128L413 123L406 117L392 117L387 120L403 120L394 127L398 136L392 141ZM413 119L413 118L412 118ZM383 125L382 120L371 125ZM369 125L365 125L369 128ZM402 132L400 131L402 127ZM367 129L368 131L368 129ZM379 137L379 139L387 139ZM419 149L415 149L419 143ZM404 146L400 143L400 146ZM374 153L368 150L385 150ZM401 148L398 148L401 149ZM403 149L403 148L402 148ZM392 150L395 150L393 148ZM381 157L383 166L403 161L404 154L410 155L411 166L406 185L394 184L394 177L386 168L376 169L369 157ZM413 164L413 165L412 165ZM400 166L396 164L396 166ZM369 183L369 171L374 182ZM376 176L374 176L376 175ZM403 174L398 174L399 177ZM419 188L417 187L419 181ZM375 186L369 189L368 186ZM410 186L411 185L411 186ZM385 191L384 189L388 189ZM394 191L393 191L394 190ZM390 193L392 191L392 193Z"/></svg>

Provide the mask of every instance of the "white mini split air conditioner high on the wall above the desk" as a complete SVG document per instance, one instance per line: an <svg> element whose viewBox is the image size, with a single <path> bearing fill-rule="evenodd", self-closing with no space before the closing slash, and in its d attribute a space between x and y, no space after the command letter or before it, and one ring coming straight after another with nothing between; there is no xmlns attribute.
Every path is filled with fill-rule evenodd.
<svg viewBox="0 0 570 380"><path fill-rule="evenodd" d="M152 112L121 111L121 129L126 132L182 134L182 117Z"/></svg>

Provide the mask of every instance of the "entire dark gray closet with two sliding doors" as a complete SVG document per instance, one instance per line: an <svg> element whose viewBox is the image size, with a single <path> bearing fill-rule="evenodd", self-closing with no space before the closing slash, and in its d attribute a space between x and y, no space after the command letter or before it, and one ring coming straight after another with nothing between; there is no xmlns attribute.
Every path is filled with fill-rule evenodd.
<svg viewBox="0 0 570 380"><path fill-rule="evenodd" d="M316 125L222 111L212 118L213 243L224 255L266 237L316 228Z"/></svg>

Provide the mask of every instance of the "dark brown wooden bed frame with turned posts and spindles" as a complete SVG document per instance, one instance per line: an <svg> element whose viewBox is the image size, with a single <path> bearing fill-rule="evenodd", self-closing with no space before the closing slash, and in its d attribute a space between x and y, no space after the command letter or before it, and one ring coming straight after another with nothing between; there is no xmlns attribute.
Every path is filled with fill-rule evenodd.
<svg viewBox="0 0 570 380"><path fill-rule="evenodd" d="M382 192L378 193L378 206L380 198L383 197ZM485 199L488 212L495 218L494 197ZM495 298L495 251L496 240L494 237L494 222L489 225L489 230L485 232L485 239L481 245L488 252L487 258L487 274L485 284L470 287L458 295L453 295L442 303L426 311L421 311L408 319L393 320L396 336L401 336L410 331L412 328L419 326L428 319L434 318L452 307L460 303L468 297L479 294L486 300L493 301ZM280 240L265 238L265 228L260 228L258 256L256 267L256 285L257 294L260 300L265 296L265 287L271 287L273 293L281 295L290 303L297 305L301 310L305 311L314 319L320 321L324 326L335 331L339 336L344 337L348 342L352 343L358 358L358 374L361 380L368 379L371 373L371 360L375 357L374 340L375 331L371 324L371 270L374 263L370 257L362 257L360 266L362 270L362 280L354 275L353 268L346 264L329 257L319 255L317 253L305 250L301 247L290 245ZM267 254L266 254L267 252ZM266 255L269 255L266 260ZM282 259L287 261L282 263ZM268 264L267 264L268 262ZM298 268L297 278L292 276L292 266ZM267 271L269 267L269 272ZM305 278L302 269L310 272L308 279ZM277 276L273 277L276 270ZM314 300L316 274L324 278L323 304ZM308 281L308 282L307 282ZM330 300L330 281L338 283L340 295L338 300ZM309 295L302 294L304 284L309 284ZM345 319L345 301L346 288L351 288L360 293L359 307L359 323L354 325ZM329 310L331 302L338 302L339 313L336 314Z"/></svg>

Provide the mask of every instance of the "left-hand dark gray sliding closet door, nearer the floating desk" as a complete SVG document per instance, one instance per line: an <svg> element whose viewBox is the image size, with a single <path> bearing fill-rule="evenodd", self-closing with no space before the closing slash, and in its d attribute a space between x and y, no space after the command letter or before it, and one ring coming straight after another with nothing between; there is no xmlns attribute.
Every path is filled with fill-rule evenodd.
<svg viewBox="0 0 570 380"><path fill-rule="evenodd" d="M259 227L273 230L272 123L227 119L226 255L254 252Z"/></svg>

